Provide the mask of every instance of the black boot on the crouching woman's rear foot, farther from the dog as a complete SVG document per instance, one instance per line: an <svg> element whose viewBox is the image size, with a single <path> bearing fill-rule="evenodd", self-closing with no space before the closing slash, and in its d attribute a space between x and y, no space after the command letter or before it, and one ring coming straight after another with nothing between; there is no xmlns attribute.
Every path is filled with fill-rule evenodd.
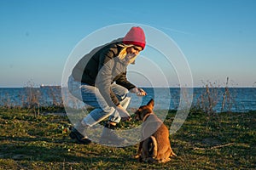
<svg viewBox="0 0 256 170"><path fill-rule="evenodd" d="M71 133L69 133L69 137L71 139L76 139L76 141L79 143L79 144L90 144L91 143L91 140L88 139L86 137L86 135L84 134L84 129L86 127L84 125L82 125L81 122L78 123L78 125L76 127L72 127L71 129ZM83 134L81 134L81 133Z"/></svg>

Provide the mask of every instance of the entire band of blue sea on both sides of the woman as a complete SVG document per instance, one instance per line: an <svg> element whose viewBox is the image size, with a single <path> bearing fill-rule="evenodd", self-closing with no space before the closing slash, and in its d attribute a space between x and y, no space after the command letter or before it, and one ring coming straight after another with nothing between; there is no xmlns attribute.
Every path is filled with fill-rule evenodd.
<svg viewBox="0 0 256 170"><path fill-rule="evenodd" d="M212 111L256 111L256 88L143 88L147 95L131 95L130 108L146 105L154 99L155 109L178 110L181 103ZM61 105L60 87L0 88L0 106Z"/></svg>

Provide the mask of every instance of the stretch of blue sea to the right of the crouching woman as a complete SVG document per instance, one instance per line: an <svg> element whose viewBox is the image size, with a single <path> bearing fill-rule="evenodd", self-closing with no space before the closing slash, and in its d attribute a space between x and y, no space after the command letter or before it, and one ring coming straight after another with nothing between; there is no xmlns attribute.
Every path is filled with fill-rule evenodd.
<svg viewBox="0 0 256 170"><path fill-rule="evenodd" d="M180 88L143 88L148 96L143 99L132 99L132 105L137 103L147 104L149 99L157 100L156 107L158 109L170 109L177 110L180 96L187 96L187 94L192 93L193 100L192 105L201 105L208 107L209 98L214 111L222 111L222 104L224 102L223 111L256 111L256 88L229 88L229 94L225 94L225 88L210 88L210 96L207 94L206 88L188 88L188 90L183 90L181 94ZM225 100L224 100L225 94ZM186 101L185 99L183 99Z"/></svg>

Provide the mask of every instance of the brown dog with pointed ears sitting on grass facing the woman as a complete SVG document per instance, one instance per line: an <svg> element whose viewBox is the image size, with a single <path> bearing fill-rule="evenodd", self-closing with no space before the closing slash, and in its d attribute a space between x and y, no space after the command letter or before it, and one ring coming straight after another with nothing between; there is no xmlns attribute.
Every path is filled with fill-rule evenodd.
<svg viewBox="0 0 256 170"><path fill-rule="evenodd" d="M142 142L135 158L139 161L171 161L170 156L176 156L172 151L169 131L166 125L153 112L154 99L141 106L135 112L135 119L143 121Z"/></svg>

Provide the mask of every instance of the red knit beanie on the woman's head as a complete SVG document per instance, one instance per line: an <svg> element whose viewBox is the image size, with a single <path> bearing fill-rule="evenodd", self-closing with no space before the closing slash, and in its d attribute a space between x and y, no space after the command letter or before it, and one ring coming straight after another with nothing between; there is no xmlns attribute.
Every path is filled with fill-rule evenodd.
<svg viewBox="0 0 256 170"><path fill-rule="evenodd" d="M145 34L141 27L133 26L131 30L125 35L123 42L125 44L133 44L145 48Z"/></svg>

